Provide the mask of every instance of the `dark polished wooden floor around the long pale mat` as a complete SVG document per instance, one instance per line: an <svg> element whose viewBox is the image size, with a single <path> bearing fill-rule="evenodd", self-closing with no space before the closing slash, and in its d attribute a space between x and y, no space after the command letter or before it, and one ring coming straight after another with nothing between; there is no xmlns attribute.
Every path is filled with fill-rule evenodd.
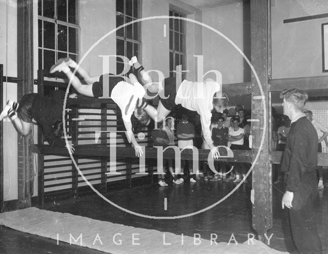
<svg viewBox="0 0 328 254"><path fill-rule="evenodd" d="M207 207L227 195L235 187L231 182L205 182L203 178L196 183L185 182L183 185L160 187L156 184L145 184L129 189L111 190L107 198L116 204L133 210L136 213L151 216L177 216L188 214ZM281 185L273 188L273 234L270 247L281 251L294 252L288 224L288 211L281 209ZM227 200L199 215L178 220L154 220L130 215L113 207L96 195L78 199L56 200L47 203L43 208L85 216L97 220L130 225L140 228L157 229L210 239L211 234L218 236L218 242L229 242L231 235L242 243L248 234L253 234L251 227L250 184L243 184ZM167 198L167 210L164 199ZM317 200L317 227L325 252L328 253L328 186L319 190ZM232 242L233 243L233 242ZM104 253L89 248L69 245L55 240L37 237L0 227L0 253Z"/></svg>

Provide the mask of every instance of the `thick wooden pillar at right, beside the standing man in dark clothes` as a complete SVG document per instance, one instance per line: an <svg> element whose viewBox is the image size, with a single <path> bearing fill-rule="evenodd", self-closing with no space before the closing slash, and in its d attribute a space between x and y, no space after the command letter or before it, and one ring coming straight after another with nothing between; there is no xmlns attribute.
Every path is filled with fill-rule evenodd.
<svg viewBox="0 0 328 254"><path fill-rule="evenodd" d="M272 227L272 189L271 189L271 167L269 164L268 148L268 116L269 94L269 20L270 0L251 0L251 62L258 75L263 94L260 93L258 82L252 73L252 119L259 120L252 122L253 138L253 159L258 152L259 158L253 168L253 190L254 204L252 208L253 228L258 233L258 238L265 242L264 234ZM263 100L264 99L264 103ZM266 112L264 112L266 111ZM271 110L270 110L271 111ZM267 117L265 117L267 113ZM267 129L263 126L267 123ZM259 147L264 132L264 142L261 150Z"/></svg>

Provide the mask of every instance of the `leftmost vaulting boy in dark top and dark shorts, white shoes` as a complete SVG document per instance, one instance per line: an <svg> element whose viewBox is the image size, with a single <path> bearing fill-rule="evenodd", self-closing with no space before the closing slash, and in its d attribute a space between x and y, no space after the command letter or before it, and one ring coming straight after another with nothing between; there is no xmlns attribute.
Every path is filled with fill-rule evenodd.
<svg viewBox="0 0 328 254"><path fill-rule="evenodd" d="M32 119L42 128L45 139L52 146L65 147L63 139L63 103L65 92L56 90L51 96L36 93L26 94L19 103L8 100L0 120L8 116L16 131L27 136L32 128ZM71 152L74 148L69 144Z"/></svg>

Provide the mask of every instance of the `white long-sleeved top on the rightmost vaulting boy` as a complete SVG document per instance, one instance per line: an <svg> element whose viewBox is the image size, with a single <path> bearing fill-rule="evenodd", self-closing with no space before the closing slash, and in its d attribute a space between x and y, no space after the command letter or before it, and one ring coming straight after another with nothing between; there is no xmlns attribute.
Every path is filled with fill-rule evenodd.
<svg viewBox="0 0 328 254"><path fill-rule="evenodd" d="M175 97L175 104L181 104L183 108L197 111L200 115L203 137L208 144L213 144L210 130L213 96L220 89L220 84L212 79L206 79L204 82L183 80Z"/></svg>

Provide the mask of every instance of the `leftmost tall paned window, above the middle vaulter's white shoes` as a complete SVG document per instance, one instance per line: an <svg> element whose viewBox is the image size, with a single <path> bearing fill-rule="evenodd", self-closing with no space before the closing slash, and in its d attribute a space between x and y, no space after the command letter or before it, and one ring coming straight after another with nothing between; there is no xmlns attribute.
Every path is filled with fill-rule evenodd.
<svg viewBox="0 0 328 254"><path fill-rule="evenodd" d="M38 69L57 59L78 60L77 0L38 0Z"/></svg>

